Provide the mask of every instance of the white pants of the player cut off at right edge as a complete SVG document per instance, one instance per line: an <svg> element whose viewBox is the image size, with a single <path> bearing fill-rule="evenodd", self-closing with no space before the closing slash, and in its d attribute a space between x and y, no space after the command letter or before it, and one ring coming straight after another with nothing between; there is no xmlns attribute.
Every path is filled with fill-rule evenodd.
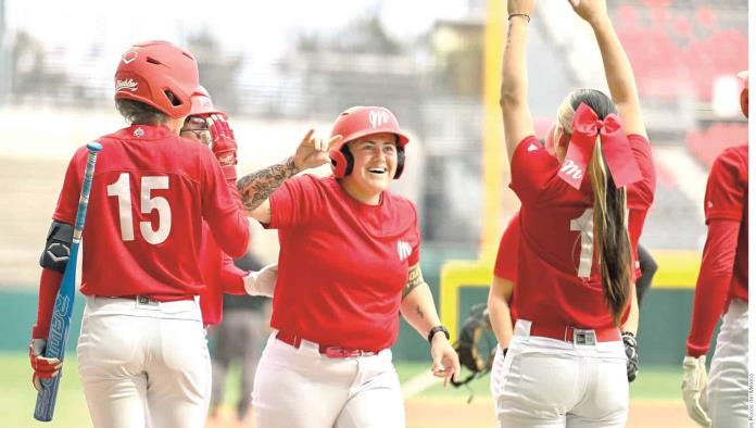
<svg viewBox="0 0 756 428"><path fill-rule="evenodd" d="M730 302L717 336L706 394L714 428L748 426L748 302Z"/></svg>

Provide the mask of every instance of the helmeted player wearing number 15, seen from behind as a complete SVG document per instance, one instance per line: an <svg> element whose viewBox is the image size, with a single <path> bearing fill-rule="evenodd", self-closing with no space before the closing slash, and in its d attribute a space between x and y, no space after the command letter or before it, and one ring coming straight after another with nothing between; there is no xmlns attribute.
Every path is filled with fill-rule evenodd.
<svg viewBox="0 0 756 428"><path fill-rule="evenodd" d="M98 139L103 150L84 231L86 307L77 348L96 427L204 424L202 225L224 252L241 255L249 223L210 149L178 136L198 85L193 56L164 41L135 45L115 73L116 106L133 125ZM33 365L65 268L61 248L71 242L86 153L80 148L71 161L40 261Z"/></svg>

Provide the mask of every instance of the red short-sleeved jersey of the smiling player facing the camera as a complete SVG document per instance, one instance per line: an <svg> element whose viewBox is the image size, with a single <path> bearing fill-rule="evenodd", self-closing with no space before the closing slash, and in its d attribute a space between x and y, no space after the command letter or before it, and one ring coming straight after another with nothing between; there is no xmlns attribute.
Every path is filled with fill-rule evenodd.
<svg viewBox="0 0 756 428"><path fill-rule="evenodd" d="M276 190L270 212L281 247L270 326L324 345L391 347L407 272L419 262L412 202L383 191L366 205L333 177L304 175Z"/></svg>

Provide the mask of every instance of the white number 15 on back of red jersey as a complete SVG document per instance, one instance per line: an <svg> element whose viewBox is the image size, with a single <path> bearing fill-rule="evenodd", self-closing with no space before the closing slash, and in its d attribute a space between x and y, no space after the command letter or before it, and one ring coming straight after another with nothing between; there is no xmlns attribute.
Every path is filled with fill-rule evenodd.
<svg viewBox="0 0 756 428"><path fill-rule="evenodd" d="M139 222L139 231L144 237L144 240L153 246L168 238L171 232L171 205L163 197L150 198L150 192L154 189L167 188L168 177L141 177L141 191L139 192L140 212L149 214L153 210L158 210L158 230L152 229L152 222ZM131 216L131 187L128 173L122 173L115 182L108 186L108 196L118 198L121 239L133 241L134 218Z"/></svg>

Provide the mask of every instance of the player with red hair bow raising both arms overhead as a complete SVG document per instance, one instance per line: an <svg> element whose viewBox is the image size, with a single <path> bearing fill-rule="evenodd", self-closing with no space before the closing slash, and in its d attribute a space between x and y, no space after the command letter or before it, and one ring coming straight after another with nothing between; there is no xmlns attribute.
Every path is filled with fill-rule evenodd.
<svg viewBox="0 0 756 428"><path fill-rule="evenodd" d="M598 0L574 8L593 28L613 99L570 93L557 111L556 158L538 143L527 104L532 5L507 2L501 106L522 205L517 282L492 284L513 310L504 303L492 318L507 349L492 372L496 416L502 427L623 427L619 327L638 326L632 259L654 196L651 148L630 63Z"/></svg>

